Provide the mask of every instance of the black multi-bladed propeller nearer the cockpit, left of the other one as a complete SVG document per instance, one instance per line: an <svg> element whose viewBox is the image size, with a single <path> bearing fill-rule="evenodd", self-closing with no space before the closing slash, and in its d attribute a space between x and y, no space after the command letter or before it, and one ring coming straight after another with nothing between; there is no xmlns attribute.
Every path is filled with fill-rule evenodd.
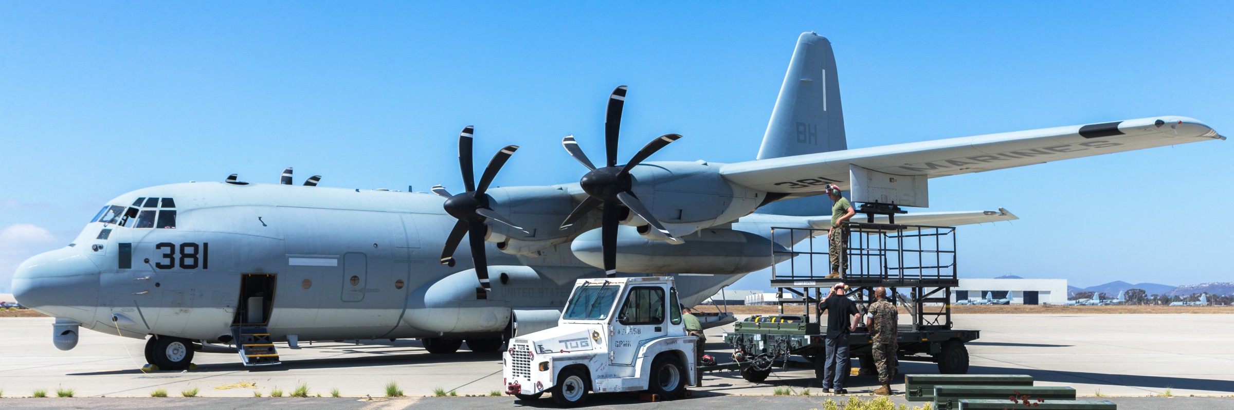
<svg viewBox="0 0 1234 410"><path fill-rule="evenodd" d="M454 249L463 241L463 235L466 235L468 242L471 246L471 262L475 264L475 277L480 279L480 285L484 287L484 290L489 290L491 289L489 285L489 264L484 254L484 236L487 233L489 227L484 221L494 220L523 232L527 232L527 230L518 227L510 219L494 211L489 206L489 196L484 194L489 189L489 184L492 183L492 178L497 177L497 172L506 164L510 156L518 149L518 146L506 146L501 151L497 151L492 156L492 159L489 161L489 165L484 168L484 174L480 175L480 184L476 185L475 174L471 169L473 131L471 126L466 126L459 133L459 168L463 172L463 185L466 188L466 191L452 195L442 185L434 185L432 191L445 198L445 204L443 205L445 212L459 220L454 224L450 236L445 240L445 247L442 248L442 264L454 266Z"/></svg>

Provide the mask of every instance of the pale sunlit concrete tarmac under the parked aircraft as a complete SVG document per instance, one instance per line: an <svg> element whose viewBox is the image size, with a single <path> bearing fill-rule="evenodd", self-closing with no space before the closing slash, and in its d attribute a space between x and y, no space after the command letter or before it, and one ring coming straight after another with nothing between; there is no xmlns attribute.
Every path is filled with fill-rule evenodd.
<svg viewBox="0 0 1234 410"><path fill-rule="evenodd" d="M1072 387L1082 396L1229 398L1234 396L1234 351L1228 346L1234 340L1232 316L956 315L954 320L956 328L981 330L981 338L969 343L971 374L1029 374L1039 385ZM708 353L721 361L731 352L721 336L728 330L708 330ZM328 396L332 389L338 389L344 396L378 398L385 395L385 385L391 382L411 396L432 395L436 388L459 395L502 389L500 354L465 349L429 354L417 341L302 343L301 349L280 345L284 364L269 368L246 368L234 354L199 352L194 358L199 366L195 370L144 373L138 369L144 363L144 341L84 331L77 348L62 352L52 346L51 337L52 319L0 319L0 390L5 398L30 396L36 389L46 389L54 396L57 388L74 389L78 398L148 396L160 388L169 396L179 396L184 389L197 388L200 396L252 400L254 393L269 395L280 389L286 394L300 384L306 384L312 395ZM905 362L901 373L938 373L938 369L932 363ZM717 372L706 374L703 383L703 388L691 388L700 396L771 395L776 387L789 387L795 394L812 388L814 396L810 400L816 404L810 408L823 400L817 396L818 382L808 370L777 370L765 384L748 383L737 372ZM874 377L851 377L848 389L861 394L877 388L876 384ZM892 388L902 391L903 384ZM611 404L624 406L619 400L627 399L597 395L592 404L617 400ZM4 408L43 405L4 400L0 404ZM482 403L499 406L515 404L508 398L474 400L494 400ZM1234 398L1215 403L1234 408Z"/></svg>

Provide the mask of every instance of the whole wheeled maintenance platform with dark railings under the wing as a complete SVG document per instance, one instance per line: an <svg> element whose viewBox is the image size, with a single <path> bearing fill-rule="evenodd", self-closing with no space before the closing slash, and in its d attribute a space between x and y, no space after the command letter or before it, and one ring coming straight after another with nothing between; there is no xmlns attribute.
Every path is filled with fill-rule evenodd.
<svg viewBox="0 0 1234 410"><path fill-rule="evenodd" d="M880 211L893 217L898 209L891 206ZM872 221L872 215L868 220ZM814 246L814 237L826 237L821 231L826 230L772 227L772 242L777 236L787 236L790 243L797 243L795 240L800 236L808 237L798 245L803 251L771 251L772 257L789 259L771 268L771 287L777 289L780 315L752 316L735 322L733 331L724 335L724 342L734 349L733 362L703 367L705 372L740 369L747 380L763 382L776 367L814 368L814 361L823 357L827 327L821 311L814 310L812 317L811 306L826 299L824 290L843 283L850 287L849 298L863 312L875 301L874 290L880 287L893 295L892 304L909 312L912 322L901 324L897 332L901 361L938 363L938 372L943 374L967 373L965 343L977 340L981 332L953 328L948 300L951 288L959 284L955 227L845 222L843 231L849 240L838 278L818 274L814 269L816 257L828 258L826 245L821 251ZM801 311L792 314L792 309ZM870 333L864 324L858 325L849 343L850 354L859 359L860 374L872 374ZM793 356L803 361L792 359Z"/></svg>

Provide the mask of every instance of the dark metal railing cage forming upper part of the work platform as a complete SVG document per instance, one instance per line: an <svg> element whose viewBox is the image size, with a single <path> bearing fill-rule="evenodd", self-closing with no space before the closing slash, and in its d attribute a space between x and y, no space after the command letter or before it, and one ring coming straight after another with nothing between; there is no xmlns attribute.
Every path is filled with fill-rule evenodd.
<svg viewBox="0 0 1234 410"><path fill-rule="evenodd" d="M771 266L771 287L777 289L780 314L784 314L785 305L802 304L803 317L810 321L810 306L822 300L832 285L843 282L863 308L874 303L875 288L887 288L895 295L891 301L905 306L912 315L914 331L951 328L951 288L959 285L955 227L871 222L845 222L843 226L848 232L848 243L843 249L845 258L840 261L839 278L827 278L829 262L823 274L816 274L814 263L818 261L814 257L829 261L828 242L823 242L821 251L814 245L816 237L827 241L826 228L771 228L771 253L777 262ZM806 238L805 243L785 249L776 247L781 243L776 240L777 235L780 240L789 235L789 241L782 243L796 243L802 236ZM805 251L796 249L802 246ZM789 262L785 264L787 269L780 267L782 262ZM900 290L907 290L908 295ZM790 294L791 298L785 298ZM817 316L814 321L822 322Z"/></svg>

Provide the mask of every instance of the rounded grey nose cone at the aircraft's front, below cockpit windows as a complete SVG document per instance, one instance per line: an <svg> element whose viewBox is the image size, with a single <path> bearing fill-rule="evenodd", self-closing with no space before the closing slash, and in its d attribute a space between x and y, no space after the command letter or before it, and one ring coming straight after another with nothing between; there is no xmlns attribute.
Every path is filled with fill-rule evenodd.
<svg viewBox="0 0 1234 410"><path fill-rule="evenodd" d="M22 306L49 316L93 321L99 267L70 247L39 253L17 267L12 296Z"/></svg>

